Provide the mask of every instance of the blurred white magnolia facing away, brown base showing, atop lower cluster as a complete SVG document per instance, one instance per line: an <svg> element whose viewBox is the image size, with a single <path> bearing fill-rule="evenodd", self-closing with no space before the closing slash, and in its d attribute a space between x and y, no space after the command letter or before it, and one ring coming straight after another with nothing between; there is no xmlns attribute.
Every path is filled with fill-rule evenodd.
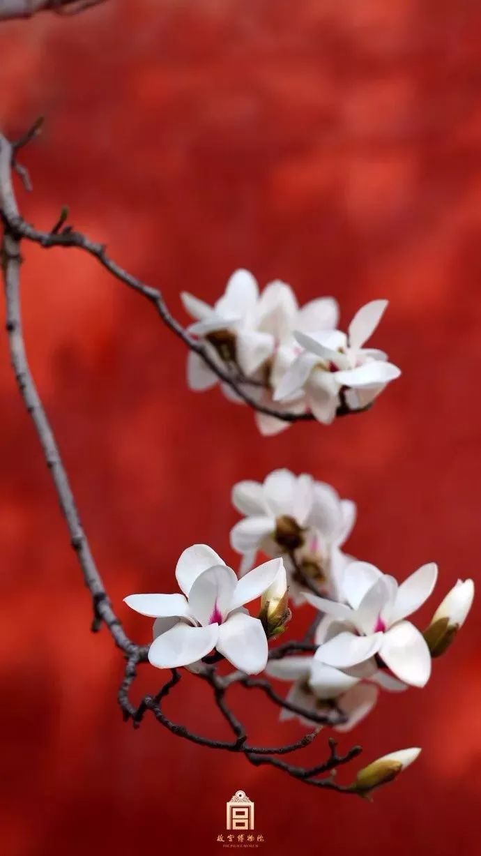
<svg viewBox="0 0 481 856"><path fill-rule="evenodd" d="M267 556L286 557L289 596L294 600L299 599L302 583L293 562L319 591L336 595L349 561L340 547L353 528L353 502L341 500L329 484L287 469L274 470L263 484L238 482L232 502L246 515L230 532L233 549L243 556L241 573L252 568L262 550Z"/></svg>

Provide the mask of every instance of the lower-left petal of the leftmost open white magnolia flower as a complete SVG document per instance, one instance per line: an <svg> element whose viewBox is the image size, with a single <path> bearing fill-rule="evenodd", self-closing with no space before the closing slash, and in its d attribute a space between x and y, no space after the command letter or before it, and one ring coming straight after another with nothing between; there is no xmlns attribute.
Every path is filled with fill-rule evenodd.
<svg viewBox="0 0 481 856"><path fill-rule="evenodd" d="M157 669L187 666L205 657L215 647L219 635L217 624L189 627L179 621L167 633L157 636L149 648L149 663Z"/></svg>

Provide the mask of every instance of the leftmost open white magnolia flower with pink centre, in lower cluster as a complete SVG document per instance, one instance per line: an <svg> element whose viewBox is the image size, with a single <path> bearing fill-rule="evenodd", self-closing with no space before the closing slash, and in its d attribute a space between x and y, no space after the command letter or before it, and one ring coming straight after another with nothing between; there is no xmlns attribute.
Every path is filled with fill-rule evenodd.
<svg viewBox="0 0 481 856"><path fill-rule="evenodd" d="M257 675L267 663L267 639L244 603L276 579L282 559L254 568L238 580L206 544L187 547L175 568L183 594L133 594L125 603L155 618L149 662L158 669L187 666L216 648L236 669Z"/></svg>

